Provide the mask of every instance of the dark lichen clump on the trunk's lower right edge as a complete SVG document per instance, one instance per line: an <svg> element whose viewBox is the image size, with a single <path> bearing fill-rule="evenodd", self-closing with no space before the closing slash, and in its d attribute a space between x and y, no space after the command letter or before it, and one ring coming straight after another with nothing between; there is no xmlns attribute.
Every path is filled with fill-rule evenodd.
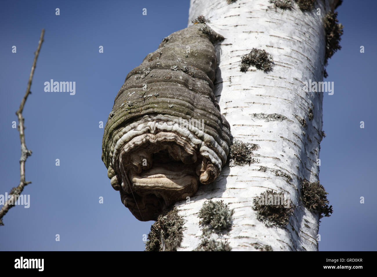
<svg viewBox="0 0 377 277"><path fill-rule="evenodd" d="M333 206L328 205L327 192L323 185L319 182L309 182L307 179L301 180L301 193L300 200L309 211L319 213L319 218L323 216L330 216L333 213Z"/></svg>

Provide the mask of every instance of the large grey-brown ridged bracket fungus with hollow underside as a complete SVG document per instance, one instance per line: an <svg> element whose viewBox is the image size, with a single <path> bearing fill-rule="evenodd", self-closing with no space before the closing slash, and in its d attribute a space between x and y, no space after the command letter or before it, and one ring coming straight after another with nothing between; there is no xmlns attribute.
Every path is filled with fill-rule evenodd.
<svg viewBox="0 0 377 277"><path fill-rule="evenodd" d="M213 94L213 43L224 38L204 26L171 34L131 70L107 120L102 160L139 220L213 182L227 160L230 127Z"/></svg>

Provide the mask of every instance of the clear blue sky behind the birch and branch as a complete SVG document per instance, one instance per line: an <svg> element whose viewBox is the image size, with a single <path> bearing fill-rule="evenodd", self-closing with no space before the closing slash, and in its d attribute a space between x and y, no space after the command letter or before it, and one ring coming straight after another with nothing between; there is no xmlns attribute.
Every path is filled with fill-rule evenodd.
<svg viewBox="0 0 377 277"><path fill-rule="evenodd" d="M320 224L322 251L377 250L377 4L350 2L337 9L345 26L342 50L329 60L326 80L334 81L334 95L325 93L323 100L327 136L319 177L334 213ZM33 151L26 162L26 181L32 184L23 194L30 194L31 204L16 206L3 218L0 250L144 249L143 234L153 222L135 219L111 187L101 161L98 122L106 123L127 73L163 37L187 27L188 14L189 0L0 3L0 194L19 183L20 141L12 121L17 121L41 29L46 29L23 112L26 145ZM76 94L44 92L44 82L51 79L75 81Z"/></svg>

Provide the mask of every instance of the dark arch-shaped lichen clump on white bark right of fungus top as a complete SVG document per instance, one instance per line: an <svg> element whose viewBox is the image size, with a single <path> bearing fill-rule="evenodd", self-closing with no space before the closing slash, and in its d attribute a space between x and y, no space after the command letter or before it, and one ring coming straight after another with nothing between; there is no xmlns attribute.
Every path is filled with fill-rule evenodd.
<svg viewBox="0 0 377 277"><path fill-rule="evenodd" d="M241 57L241 67L242 72L246 72L251 65L255 66L257 69L268 71L272 69L272 56L268 52L262 49L251 49L249 54L243 55Z"/></svg>

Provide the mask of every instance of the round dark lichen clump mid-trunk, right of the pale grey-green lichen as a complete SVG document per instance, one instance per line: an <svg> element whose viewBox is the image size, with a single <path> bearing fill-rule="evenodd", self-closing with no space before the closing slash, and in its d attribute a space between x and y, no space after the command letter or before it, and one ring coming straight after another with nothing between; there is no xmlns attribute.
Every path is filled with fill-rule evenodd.
<svg viewBox="0 0 377 277"><path fill-rule="evenodd" d="M254 206L253 210L257 211L257 219L266 226L278 226L278 227L285 227L289 223L289 217L293 214L294 206L291 200L289 200L289 207L285 208L284 204L280 203L280 205L268 205L269 201L265 203L267 193L267 200L269 195L273 195L274 199L281 199L284 197L282 192L277 193L273 190L267 190L264 193L261 193L261 196L254 199ZM272 197L271 197L271 200ZM260 204L263 203L263 204ZM272 204L277 204L275 200L271 202Z"/></svg>

